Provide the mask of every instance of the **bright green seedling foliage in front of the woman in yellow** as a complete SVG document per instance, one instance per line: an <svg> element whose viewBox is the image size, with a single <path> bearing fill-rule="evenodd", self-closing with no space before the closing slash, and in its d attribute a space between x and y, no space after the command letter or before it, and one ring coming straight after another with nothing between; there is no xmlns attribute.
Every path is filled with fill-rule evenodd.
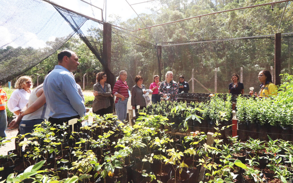
<svg viewBox="0 0 293 183"><path fill-rule="evenodd" d="M272 126L293 126L293 76L283 75L277 96L255 99L239 96L236 102L236 116L240 122Z"/></svg>

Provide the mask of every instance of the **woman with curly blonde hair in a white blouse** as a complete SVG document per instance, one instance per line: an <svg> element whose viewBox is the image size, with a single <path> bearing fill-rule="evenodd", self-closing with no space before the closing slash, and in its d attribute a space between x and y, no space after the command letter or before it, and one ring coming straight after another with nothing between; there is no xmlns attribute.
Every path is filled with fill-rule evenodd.
<svg viewBox="0 0 293 183"><path fill-rule="evenodd" d="M28 76L22 76L16 81L15 88L17 89L12 92L7 102L9 111L13 112L14 115L18 116L20 111L28 103L28 98L31 92L30 89L32 87L32 79Z"/></svg>

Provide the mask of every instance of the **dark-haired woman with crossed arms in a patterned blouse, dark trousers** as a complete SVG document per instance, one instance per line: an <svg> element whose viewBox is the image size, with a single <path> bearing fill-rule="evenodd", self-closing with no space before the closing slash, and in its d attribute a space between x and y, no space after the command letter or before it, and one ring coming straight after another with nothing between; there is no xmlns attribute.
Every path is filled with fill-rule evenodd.
<svg viewBox="0 0 293 183"><path fill-rule="evenodd" d="M110 98L112 96L111 86L106 83L107 75L105 72L99 72L96 75L97 83L93 85L93 113L103 116L104 114L112 113Z"/></svg>

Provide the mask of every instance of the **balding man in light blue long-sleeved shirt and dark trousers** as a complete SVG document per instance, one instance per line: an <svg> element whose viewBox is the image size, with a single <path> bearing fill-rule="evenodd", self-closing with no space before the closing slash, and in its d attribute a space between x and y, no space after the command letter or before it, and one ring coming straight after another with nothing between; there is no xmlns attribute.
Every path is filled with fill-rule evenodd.
<svg viewBox="0 0 293 183"><path fill-rule="evenodd" d="M86 108L77 91L73 72L79 65L76 53L63 50L58 54L58 65L47 75L44 81L44 92L47 106L50 109L49 121L52 124L63 124L73 118L85 115ZM78 123L75 127L79 127Z"/></svg>

